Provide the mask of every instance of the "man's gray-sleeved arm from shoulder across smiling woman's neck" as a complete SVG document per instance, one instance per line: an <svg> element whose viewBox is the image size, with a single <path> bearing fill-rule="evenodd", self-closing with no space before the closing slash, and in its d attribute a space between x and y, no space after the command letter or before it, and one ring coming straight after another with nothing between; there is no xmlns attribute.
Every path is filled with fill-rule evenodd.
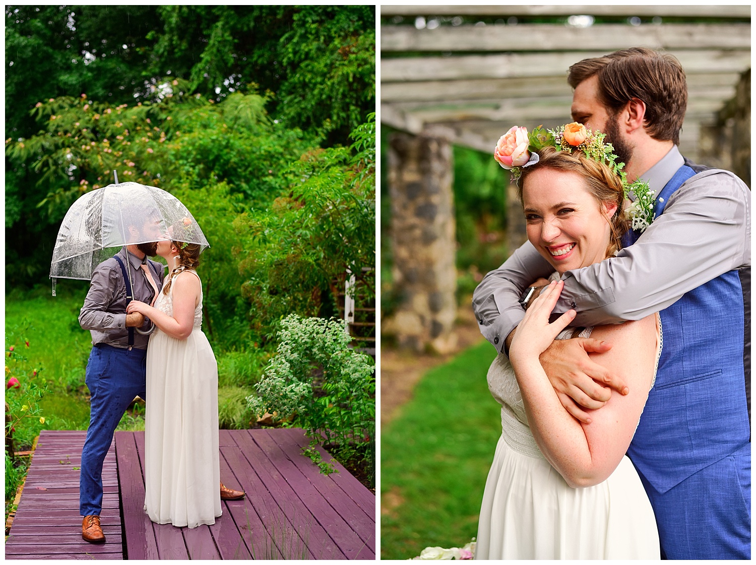
<svg viewBox="0 0 756 565"><path fill-rule="evenodd" d="M729 175L712 175L711 194L683 187L636 244L618 256L566 272L554 314L578 311L572 325L640 320L684 293L750 264L746 202ZM717 192L718 189L718 192Z"/></svg>

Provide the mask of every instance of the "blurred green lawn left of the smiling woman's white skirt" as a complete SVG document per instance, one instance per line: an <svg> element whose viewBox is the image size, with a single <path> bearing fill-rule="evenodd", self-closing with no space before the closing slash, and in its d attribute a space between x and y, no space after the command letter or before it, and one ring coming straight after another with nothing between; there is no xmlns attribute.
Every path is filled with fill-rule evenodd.
<svg viewBox="0 0 756 565"><path fill-rule="evenodd" d="M488 343L428 371L381 433L381 558L476 536L488 468L501 434L486 373Z"/></svg>

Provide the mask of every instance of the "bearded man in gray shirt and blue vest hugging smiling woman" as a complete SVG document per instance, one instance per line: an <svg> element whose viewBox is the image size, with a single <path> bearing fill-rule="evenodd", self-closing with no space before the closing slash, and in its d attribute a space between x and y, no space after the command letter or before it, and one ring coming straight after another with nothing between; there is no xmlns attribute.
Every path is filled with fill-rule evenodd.
<svg viewBox="0 0 756 565"><path fill-rule="evenodd" d="M652 502L662 557L749 559L750 191L677 150L687 91L671 55L625 49L573 65L568 80L573 119L606 133L629 182L649 182L657 216L617 256L565 272L554 313L575 309L572 325L593 326L661 311L662 358L628 455ZM507 354L524 315L523 291L552 271L525 243L479 284L473 310L498 352ZM562 405L585 423L583 408L611 396L602 385L627 393L587 355L609 347L575 338L541 355Z"/></svg>

